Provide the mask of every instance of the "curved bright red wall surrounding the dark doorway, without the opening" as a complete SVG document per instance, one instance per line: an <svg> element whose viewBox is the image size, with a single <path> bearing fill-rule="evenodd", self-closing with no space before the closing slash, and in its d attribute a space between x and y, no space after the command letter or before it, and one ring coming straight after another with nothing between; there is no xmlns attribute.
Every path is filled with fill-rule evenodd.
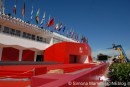
<svg viewBox="0 0 130 87"><path fill-rule="evenodd" d="M82 53L79 52L80 48L82 48ZM73 42L57 43L47 48L44 53L44 61L69 63L70 55L88 55L89 59L92 61L91 48L89 45Z"/></svg>

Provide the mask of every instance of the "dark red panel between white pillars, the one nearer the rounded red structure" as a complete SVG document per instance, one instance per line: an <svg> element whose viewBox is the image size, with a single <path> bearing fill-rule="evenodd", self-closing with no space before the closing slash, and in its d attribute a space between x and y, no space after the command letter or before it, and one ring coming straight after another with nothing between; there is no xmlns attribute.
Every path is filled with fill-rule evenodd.
<svg viewBox="0 0 130 87"><path fill-rule="evenodd" d="M34 54L32 50L23 50L22 61L34 61Z"/></svg>

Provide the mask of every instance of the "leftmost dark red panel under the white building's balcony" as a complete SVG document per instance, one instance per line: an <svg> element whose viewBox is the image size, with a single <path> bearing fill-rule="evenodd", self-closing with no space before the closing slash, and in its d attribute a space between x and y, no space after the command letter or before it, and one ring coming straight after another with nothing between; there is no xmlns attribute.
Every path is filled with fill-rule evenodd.
<svg viewBox="0 0 130 87"><path fill-rule="evenodd" d="M2 51L2 61L18 61L19 50L12 47L5 47Z"/></svg>

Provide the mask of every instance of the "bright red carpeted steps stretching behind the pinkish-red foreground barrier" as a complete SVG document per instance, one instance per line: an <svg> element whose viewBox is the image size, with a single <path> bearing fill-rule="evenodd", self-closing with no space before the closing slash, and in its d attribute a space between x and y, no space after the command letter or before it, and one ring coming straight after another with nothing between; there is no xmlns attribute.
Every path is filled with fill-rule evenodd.
<svg viewBox="0 0 130 87"><path fill-rule="evenodd" d="M63 69L64 73L71 73L84 68L95 67L95 64L56 64L56 65L15 65L0 66L0 78L31 78L45 74L49 70Z"/></svg>

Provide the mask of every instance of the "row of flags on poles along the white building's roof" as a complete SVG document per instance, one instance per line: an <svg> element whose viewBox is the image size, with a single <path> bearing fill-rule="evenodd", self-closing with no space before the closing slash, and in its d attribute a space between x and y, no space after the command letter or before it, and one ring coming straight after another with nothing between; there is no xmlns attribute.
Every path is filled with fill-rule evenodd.
<svg viewBox="0 0 130 87"><path fill-rule="evenodd" d="M33 9L34 8L32 6L31 16L30 16L31 20L33 19L33 12L34 12ZM14 7L13 7L13 14L14 14L14 16L16 16L16 13L17 13L17 10L16 10L16 3L15 3ZM24 18L24 16L25 16L25 2L23 3L22 12L21 13L22 13L22 16ZM46 26L46 27L54 26L54 24L55 24L54 17L50 18L50 16L49 16L48 22L45 24L46 12L43 13L41 22L39 22L39 14L40 14L40 8L37 10L36 16L35 16L35 21L36 21L37 25L39 24L40 27L43 27L43 25ZM74 32L74 30L72 30L72 29L68 30L66 28L66 26L65 25L63 26L63 24L60 23L60 22L55 24L54 30L56 30L56 31L61 31L62 30L63 32L66 31L66 36L67 37L75 39L77 41L79 41L79 38L80 38L80 40L81 40L80 42L83 42L83 43L87 43L88 42L85 36L80 37L79 34Z"/></svg>

